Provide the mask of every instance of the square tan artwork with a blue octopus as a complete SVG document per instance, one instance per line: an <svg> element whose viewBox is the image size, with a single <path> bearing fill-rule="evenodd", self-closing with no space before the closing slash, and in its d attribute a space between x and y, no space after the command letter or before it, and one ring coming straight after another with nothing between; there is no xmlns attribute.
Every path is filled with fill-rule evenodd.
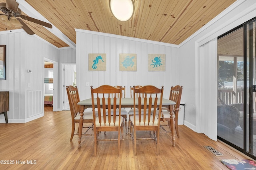
<svg viewBox="0 0 256 170"><path fill-rule="evenodd" d="M165 71L165 54L148 54L148 71Z"/></svg>

